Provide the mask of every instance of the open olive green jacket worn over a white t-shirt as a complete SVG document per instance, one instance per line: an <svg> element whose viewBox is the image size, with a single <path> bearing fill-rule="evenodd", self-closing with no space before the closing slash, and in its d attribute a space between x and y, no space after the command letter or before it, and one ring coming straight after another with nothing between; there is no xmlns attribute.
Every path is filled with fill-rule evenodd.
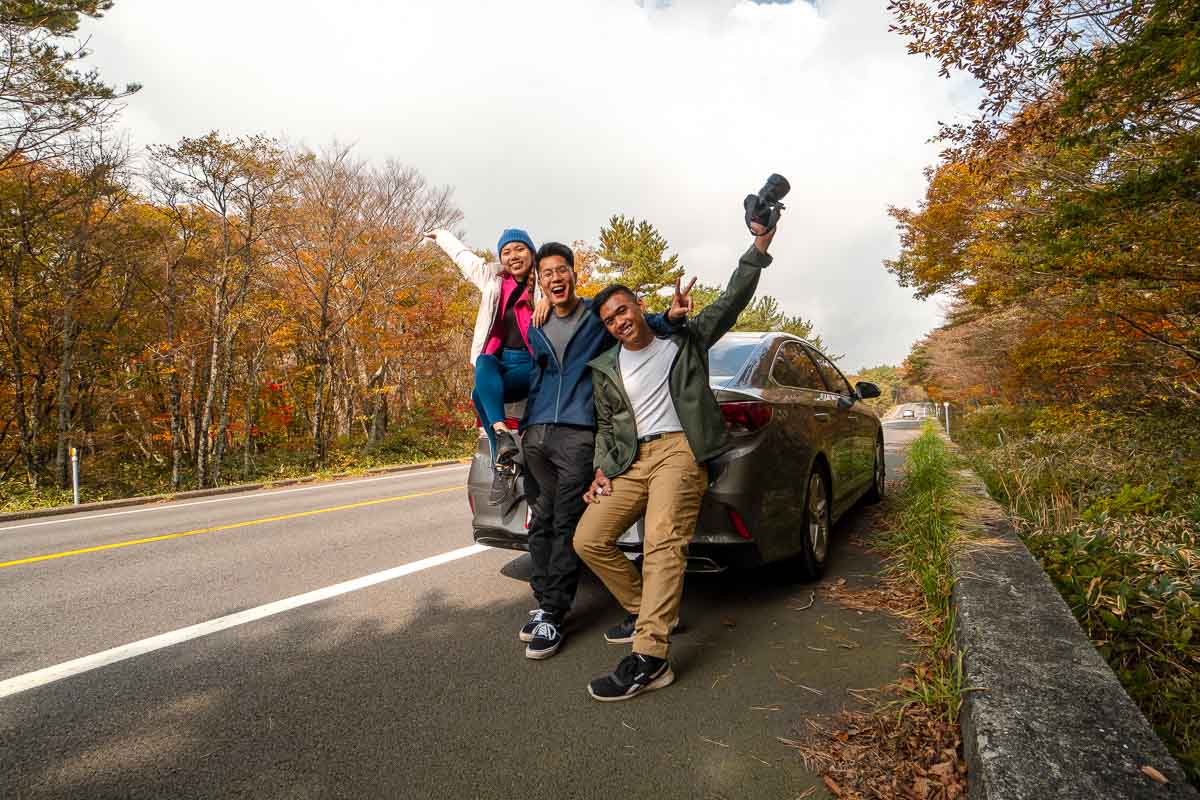
<svg viewBox="0 0 1200 800"><path fill-rule="evenodd" d="M667 384L697 462L715 458L731 446L725 416L708 387L708 349L738 321L738 314L754 297L762 267L770 261L770 255L751 245L721 296L688 320L683 330L665 337L679 347ZM618 344L588 362L596 404L595 468L608 477L620 475L637 458L637 422L620 379L619 353Z"/></svg>

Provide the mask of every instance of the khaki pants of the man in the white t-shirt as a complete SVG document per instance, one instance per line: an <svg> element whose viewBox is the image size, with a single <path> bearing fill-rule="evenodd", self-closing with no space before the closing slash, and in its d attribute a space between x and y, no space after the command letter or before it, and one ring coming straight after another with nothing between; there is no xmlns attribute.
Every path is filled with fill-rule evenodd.
<svg viewBox="0 0 1200 800"><path fill-rule="evenodd" d="M638 447L637 459L612 479L612 494L589 505L575 530L575 552L625 610L637 614L634 652L667 657L679 619L688 542L696 530L708 470L697 464L683 433L667 433ZM617 540L646 515L642 573L617 548Z"/></svg>

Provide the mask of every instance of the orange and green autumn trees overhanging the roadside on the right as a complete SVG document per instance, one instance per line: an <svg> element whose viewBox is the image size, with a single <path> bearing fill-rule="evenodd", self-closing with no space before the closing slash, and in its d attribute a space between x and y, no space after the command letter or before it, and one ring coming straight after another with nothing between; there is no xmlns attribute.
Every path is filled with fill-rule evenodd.
<svg viewBox="0 0 1200 800"><path fill-rule="evenodd" d="M952 323L1015 325L990 345L1006 392L1200 403L1200 2L892 8L911 52L984 100L942 130L920 206L893 209L888 269L955 297Z"/></svg>

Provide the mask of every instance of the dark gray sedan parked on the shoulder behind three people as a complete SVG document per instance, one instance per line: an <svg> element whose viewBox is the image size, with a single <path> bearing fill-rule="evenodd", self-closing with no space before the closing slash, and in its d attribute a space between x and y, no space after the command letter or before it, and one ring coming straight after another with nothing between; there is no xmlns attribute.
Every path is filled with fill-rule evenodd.
<svg viewBox="0 0 1200 800"><path fill-rule="evenodd" d="M833 524L859 499L883 495L882 426L860 402L878 397L878 387L852 387L828 357L790 333L727 333L709 351L708 371L734 446L710 464L688 569L792 559L802 576L820 577ZM502 512L487 503L491 483L480 435L467 486L475 541L527 549L524 501ZM630 557L641 552L642 525L618 541Z"/></svg>

